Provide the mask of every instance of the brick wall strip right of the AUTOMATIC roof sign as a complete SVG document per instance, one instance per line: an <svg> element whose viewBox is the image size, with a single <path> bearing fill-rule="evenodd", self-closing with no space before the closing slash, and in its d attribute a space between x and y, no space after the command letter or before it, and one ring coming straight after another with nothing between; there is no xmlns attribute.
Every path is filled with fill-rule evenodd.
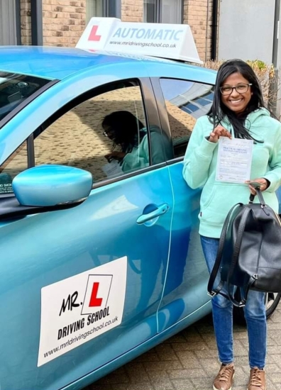
<svg viewBox="0 0 281 390"><path fill-rule="evenodd" d="M211 56L211 12L210 0L184 0L184 23L192 29L200 59ZM209 4L209 6L208 6Z"/></svg>

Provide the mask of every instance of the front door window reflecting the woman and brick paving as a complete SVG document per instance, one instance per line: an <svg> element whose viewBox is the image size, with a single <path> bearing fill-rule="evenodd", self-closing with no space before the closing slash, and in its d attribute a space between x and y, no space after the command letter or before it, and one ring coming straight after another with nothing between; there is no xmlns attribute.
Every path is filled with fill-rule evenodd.
<svg viewBox="0 0 281 390"><path fill-rule="evenodd" d="M149 165L140 87L116 86L75 106L43 132L35 132L35 165L86 169L94 182Z"/></svg>

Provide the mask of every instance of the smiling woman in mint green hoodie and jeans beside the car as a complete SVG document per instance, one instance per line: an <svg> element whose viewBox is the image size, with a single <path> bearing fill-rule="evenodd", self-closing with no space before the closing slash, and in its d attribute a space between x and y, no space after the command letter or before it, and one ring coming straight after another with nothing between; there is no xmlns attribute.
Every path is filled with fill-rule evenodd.
<svg viewBox="0 0 281 390"><path fill-rule="evenodd" d="M193 189L203 186L199 234L209 272L216 259L219 237L229 209L248 203L255 189L249 182L216 180L220 137L253 140L250 180L259 182L265 202L278 211L275 191L281 184L281 126L265 108L258 78L242 60L228 60L219 68L214 102L197 120L184 157L183 176ZM217 295L212 299L214 330L221 368L214 390L230 390L234 377L232 303ZM265 295L251 290L244 308L248 328L250 379L248 390L265 390Z"/></svg>

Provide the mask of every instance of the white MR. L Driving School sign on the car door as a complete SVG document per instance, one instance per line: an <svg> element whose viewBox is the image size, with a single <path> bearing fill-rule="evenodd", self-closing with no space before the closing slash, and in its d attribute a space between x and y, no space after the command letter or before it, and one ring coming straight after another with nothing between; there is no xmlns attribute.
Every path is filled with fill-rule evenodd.
<svg viewBox="0 0 281 390"><path fill-rule="evenodd" d="M41 289L38 367L122 322L127 257Z"/></svg>

